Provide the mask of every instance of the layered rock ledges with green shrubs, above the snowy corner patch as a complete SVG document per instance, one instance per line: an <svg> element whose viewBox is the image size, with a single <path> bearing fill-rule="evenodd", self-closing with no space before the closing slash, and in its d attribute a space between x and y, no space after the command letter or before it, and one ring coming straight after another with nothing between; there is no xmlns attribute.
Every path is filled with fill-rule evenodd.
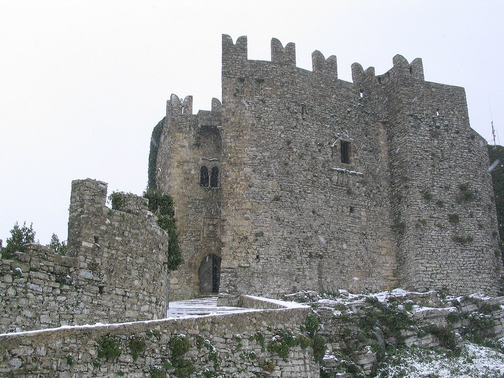
<svg viewBox="0 0 504 378"><path fill-rule="evenodd" d="M504 337L504 297L473 294L446 300L429 291L391 296L382 303L371 298L308 302L322 325L320 334L328 340L329 352L321 364L328 376L339 376L349 362L371 374L380 346L447 349L452 337L451 347L463 348L463 340ZM394 327L397 332L390 332Z"/></svg>

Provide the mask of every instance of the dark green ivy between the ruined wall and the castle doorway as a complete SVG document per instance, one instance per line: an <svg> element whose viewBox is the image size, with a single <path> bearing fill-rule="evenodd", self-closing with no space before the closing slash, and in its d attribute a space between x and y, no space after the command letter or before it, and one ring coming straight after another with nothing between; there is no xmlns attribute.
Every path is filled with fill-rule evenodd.
<svg viewBox="0 0 504 378"><path fill-rule="evenodd" d="M149 210L158 217L158 225L168 232L168 270L176 270L182 264L182 253L178 242L177 226L175 224L175 212L173 210L173 198L158 189L151 189L144 194L149 200Z"/></svg>

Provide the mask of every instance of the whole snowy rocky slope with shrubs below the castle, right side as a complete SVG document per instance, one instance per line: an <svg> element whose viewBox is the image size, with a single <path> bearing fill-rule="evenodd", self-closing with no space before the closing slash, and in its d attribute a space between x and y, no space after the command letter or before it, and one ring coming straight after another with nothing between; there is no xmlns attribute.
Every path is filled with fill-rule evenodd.
<svg viewBox="0 0 504 378"><path fill-rule="evenodd" d="M322 378L504 376L504 297L394 289L284 299L310 304L319 318Z"/></svg>

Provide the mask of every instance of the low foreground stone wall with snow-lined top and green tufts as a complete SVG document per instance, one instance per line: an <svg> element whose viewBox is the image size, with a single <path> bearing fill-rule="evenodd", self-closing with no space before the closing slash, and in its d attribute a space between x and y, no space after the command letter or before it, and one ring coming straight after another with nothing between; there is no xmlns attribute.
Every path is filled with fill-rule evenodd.
<svg viewBox="0 0 504 378"><path fill-rule="evenodd" d="M299 335L308 312L308 307L284 307L0 335L0 374L318 378L319 365L313 361L311 347L290 347L285 359L268 348L278 331Z"/></svg>

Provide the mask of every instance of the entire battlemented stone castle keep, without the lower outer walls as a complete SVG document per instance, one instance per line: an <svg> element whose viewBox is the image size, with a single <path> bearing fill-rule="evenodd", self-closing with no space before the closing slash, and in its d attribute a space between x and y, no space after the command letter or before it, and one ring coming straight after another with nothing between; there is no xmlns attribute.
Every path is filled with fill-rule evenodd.
<svg viewBox="0 0 504 378"><path fill-rule="evenodd" d="M169 193L185 264L170 299L300 289L496 293L501 259L486 141L461 87L401 55L375 75L295 45L222 38L222 104L171 95L150 185ZM227 298L227 300L225 300Z"/></svg>

